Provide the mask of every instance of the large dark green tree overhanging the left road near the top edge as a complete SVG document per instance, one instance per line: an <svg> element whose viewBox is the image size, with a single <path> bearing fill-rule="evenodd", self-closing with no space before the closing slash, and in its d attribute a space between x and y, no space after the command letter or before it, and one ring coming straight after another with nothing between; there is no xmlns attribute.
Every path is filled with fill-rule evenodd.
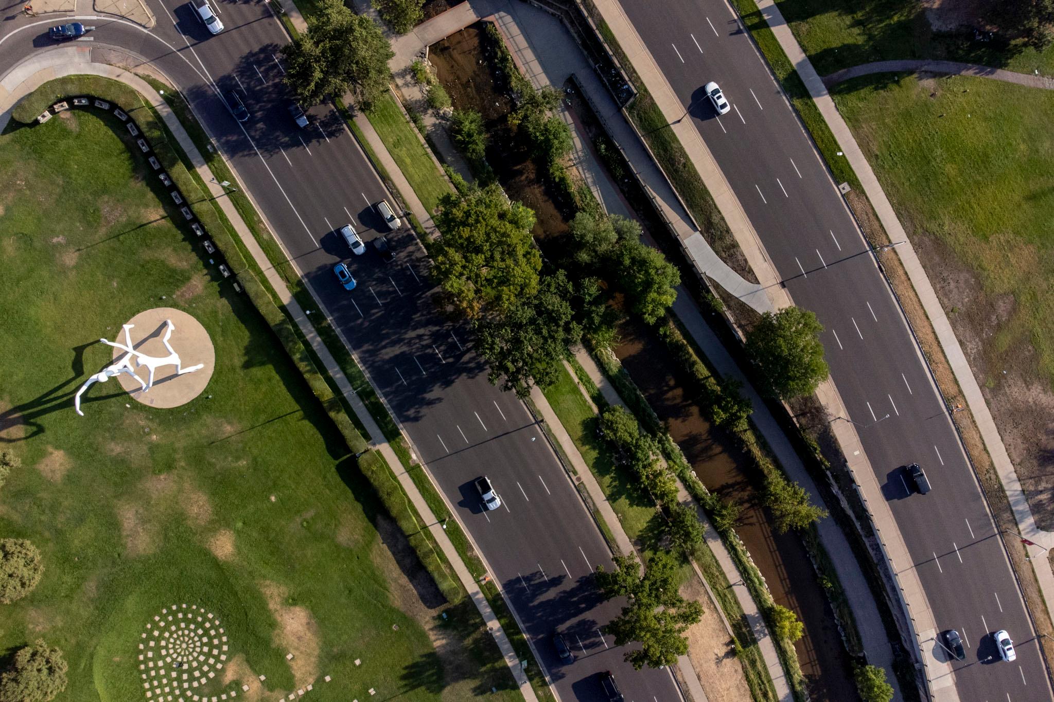
<svg viewBox="0 0 1054 702"><path fill-rule="evenodd" d="M388 60L394 54L380 27L366 15L355 15L343 0L320 0L307 33L281 53L286 83L307 104L350 93L368 109L391 80Z"/></svg>

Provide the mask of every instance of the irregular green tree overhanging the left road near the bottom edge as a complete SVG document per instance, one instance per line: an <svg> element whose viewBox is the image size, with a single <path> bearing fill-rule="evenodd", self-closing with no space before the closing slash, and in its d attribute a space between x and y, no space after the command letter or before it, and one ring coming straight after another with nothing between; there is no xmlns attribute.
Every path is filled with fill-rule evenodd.
<svg viewBox="0 0 1054 702"><path fill-rule="evenodd" d="M640 670L645 665L660 667L677 662L688 650L684 631L703 616L699 602L688 602L678 591L678 564L660 551L648 561L641 575L637 557L616 556L616 568L597 568L597 584L604 596L629 598L622 613L606 627L621 646L638 642L641 648L625 654L625 660Z"/></svg>

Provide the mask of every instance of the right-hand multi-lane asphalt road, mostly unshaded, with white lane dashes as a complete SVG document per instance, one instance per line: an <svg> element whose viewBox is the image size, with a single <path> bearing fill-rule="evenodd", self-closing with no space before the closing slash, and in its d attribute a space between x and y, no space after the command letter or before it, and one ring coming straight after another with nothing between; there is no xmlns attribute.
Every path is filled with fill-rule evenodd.
<svg viewBox="0 0 1054 702"><path fill-rule="evenodd" d="M724 0L621 0L690 114L795 302L824 325L832 377L925 589L938 629L958 629L963 700L1051 699L1031 622L980 488L866 242L749 36ZM733 109L717 116L702 85ZM912 495L919 463L933 492ZM902 566L901 566L902 567ZM990 661L990 634L1014 663ZM945 660L935 641L923 646ZM998 657L996 657L997 659ZM991 663L991 664L990 664Z"/></svg>

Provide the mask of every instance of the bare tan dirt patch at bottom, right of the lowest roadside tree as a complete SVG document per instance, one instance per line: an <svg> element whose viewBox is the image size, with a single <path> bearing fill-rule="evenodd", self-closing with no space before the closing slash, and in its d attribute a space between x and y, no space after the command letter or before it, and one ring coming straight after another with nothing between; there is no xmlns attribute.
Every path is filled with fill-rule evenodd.
<svg viewBox="0 0 1054 702"><path fill-rule="evenodd" d="M750 699L743 666L736 658L733 638L721 621L718 605L709 599L706 588L696 577L681 586L686 600L703 603L703 618L685 631L688 639L688 658L699 676L709 702L740 702Z"/></svg>

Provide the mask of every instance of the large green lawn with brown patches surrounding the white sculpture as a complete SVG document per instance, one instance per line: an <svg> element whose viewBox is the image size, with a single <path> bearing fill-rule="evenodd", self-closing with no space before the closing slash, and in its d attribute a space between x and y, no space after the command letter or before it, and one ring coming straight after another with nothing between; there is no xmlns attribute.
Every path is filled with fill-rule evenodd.
<svg viewBox="0 0 1054 702"><path fill-rule="evenodd" d="M340 701L507 689L489 635L463 626L472 613L444 631L434 584L344 438L113 128L124 133L71 112L0 136L0 446L23 463L0 488L0 536L33 540L46 566L4 605L0 649L43 637L70 661L62 699L141 700L140 633L186 603L228 637L226 666L197 694L258 688L259 675L268 699L312 682ZM73 393L110 359L98 337L160 305L209 330L206 393L159 410L115 381L74 414ZM436 649L430 633L466 643Z"/></svg>

